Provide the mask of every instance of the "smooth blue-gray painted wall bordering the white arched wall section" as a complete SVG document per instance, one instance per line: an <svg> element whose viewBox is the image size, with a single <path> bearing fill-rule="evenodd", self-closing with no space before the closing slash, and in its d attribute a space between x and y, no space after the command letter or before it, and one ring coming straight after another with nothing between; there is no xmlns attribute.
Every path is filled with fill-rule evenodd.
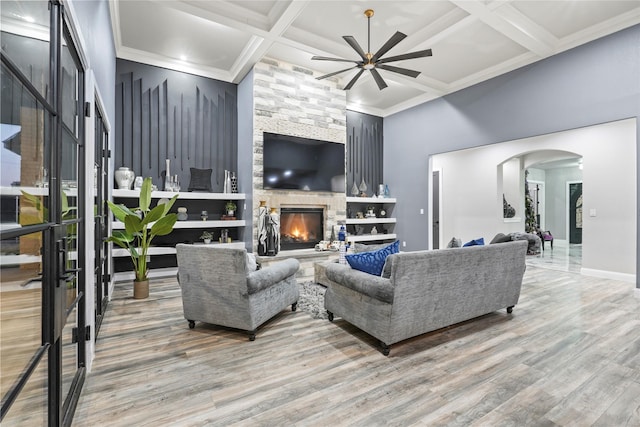
<svg viewBox="0 0 640 427"><path fill-rule="evenodd" d="M429 155L640 119L638 46L640 25L385 118L385 179L405 250L428 247Z"/></svg>

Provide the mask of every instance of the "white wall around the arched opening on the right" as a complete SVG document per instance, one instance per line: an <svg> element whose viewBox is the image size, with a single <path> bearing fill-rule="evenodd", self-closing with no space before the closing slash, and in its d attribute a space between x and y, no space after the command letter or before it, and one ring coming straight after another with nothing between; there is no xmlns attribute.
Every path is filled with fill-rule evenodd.
<svg viewBox="0 0 640 427"><path fill-rule="evenodd" d="M633 118L434 155L433 169L442 170L441 245L453 236L491 240L523 231L521 211L519 222L502 218L498 165L532 151L564 150L583 158L583 269L635 281L636 126Z"/></svg>

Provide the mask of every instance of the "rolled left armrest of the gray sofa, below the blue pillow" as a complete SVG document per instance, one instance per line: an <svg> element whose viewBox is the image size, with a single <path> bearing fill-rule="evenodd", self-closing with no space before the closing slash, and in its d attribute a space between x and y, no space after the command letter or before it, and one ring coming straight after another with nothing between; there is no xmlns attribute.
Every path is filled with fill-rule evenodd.
<svg viewBox="0 0 640 427"><path fill-rule="evenodd" d="M393 303L393 285L390 279L354 270L344 264L329 264L326 268L329 280L378 301Z"/></svg>

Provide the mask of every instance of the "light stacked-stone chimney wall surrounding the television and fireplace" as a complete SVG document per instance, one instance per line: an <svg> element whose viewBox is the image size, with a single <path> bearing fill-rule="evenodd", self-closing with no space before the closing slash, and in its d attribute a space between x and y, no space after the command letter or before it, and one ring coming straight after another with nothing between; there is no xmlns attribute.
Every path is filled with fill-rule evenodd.
<svg viewBox="0 0 640 427"><path fill-rule="evenodd" d="M325 239L346 220L346 195L333 192L264 190L263 132L346 144L347 97L331 79L316 80L311 70L263 59L253 70L253 247L257 247L258 206L325 208Z"/></svg>

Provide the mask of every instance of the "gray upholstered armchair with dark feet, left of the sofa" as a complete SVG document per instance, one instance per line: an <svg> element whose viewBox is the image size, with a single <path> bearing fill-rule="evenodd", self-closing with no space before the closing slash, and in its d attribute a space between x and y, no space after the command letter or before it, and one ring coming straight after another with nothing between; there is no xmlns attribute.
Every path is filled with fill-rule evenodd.
<svg viewBox="0 0 640 427"><path fill-rule="evenodd" d="M205 322L249 332L288 305L295 311L300 264L287 259L256 271L247 268L246 249L176 245L178 282L189 328Z"/></svg>

